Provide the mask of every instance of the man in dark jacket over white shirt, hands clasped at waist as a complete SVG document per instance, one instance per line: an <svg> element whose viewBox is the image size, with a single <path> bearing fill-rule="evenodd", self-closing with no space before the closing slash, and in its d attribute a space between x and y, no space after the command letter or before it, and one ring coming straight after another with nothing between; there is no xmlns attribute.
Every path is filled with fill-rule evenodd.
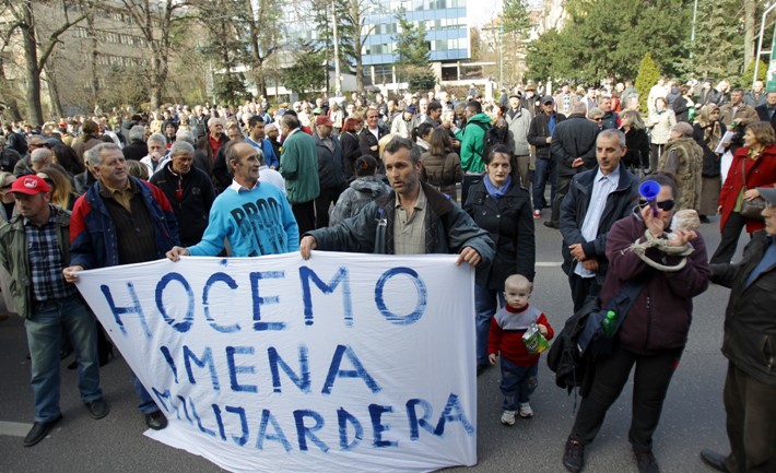
<svg viewBox="0 0 776 473"><path fill-rule="evenodd" d="M614 222L631 214L638 199L638 179L620 163L624 154L625 134L603 130L596 140L598 166L574 176L563 200L561 251L575 312L603 287L607 234Z"/></svg>

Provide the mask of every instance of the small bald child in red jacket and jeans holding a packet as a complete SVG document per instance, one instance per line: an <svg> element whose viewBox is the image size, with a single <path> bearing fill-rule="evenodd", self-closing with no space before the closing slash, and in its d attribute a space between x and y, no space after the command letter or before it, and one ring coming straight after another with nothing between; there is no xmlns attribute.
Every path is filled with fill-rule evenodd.
<svg viewBox="0 0 776 473"><path fill-rule="evenodd" d="M544 314L528 304L533 292L533 284L520 274L513 274L504 282L503 307L491 320L491 332L487 336L487 358L492 365L501 356L502 382L504 394L502 424L514 425L515 413L519 409L520 417L532 417L533 411L529 398L537 388L539 373L539 354L530 354L522 340L522 334L536 323L539 332L551 340L552 330Z"/></svg>

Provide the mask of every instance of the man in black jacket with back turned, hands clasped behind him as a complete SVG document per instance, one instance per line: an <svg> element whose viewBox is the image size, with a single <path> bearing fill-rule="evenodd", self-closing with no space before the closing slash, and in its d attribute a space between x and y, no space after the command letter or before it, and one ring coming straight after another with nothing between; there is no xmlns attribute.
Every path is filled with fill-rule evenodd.
<svg viewBox="0 0 776 473"><path fill-rule="evenodd" d="M587 119L585 104L576 104L566 121L559 123L552 135L550 153L555 162L557 189L552 200L552 216L544 226L560 228L561 203L568 192L572 178L596 165L598 125Z"/></svg>

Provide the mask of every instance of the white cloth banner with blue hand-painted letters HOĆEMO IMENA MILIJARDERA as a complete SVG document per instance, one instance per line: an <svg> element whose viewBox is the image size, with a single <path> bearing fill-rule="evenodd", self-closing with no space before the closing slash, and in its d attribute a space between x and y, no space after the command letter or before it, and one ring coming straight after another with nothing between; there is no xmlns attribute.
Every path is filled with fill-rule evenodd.
<svg viewBox="0 0 776 473"><path fill-rule="evenodd" d="M455 256L184 258L78 287L169 419L234 472L477 463L473 271Z"/></svg>

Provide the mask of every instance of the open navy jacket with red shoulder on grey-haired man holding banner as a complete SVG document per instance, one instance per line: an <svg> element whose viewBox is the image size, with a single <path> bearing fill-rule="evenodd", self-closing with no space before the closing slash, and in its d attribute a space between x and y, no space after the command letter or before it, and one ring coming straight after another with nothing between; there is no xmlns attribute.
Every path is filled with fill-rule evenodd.
<svg viewBox="0 0 776 473"><path fill-rule="evenodd" d="M145 208L154 222L156 253L165 253L178 245L178 223L167 198L156 186L130 177L140 189ZM75 201L70 218L70 264L91 270L115 267L118 260L118 238L110 211L105 205L98 181Z"/></svg>

